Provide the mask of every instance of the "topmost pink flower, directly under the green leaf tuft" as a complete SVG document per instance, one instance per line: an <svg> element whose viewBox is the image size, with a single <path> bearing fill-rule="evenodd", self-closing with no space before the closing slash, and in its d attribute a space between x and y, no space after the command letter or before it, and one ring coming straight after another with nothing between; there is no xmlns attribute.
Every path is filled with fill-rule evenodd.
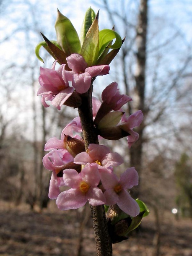
<svg viewBox="0 0 192 256"><path fill-rule="evenodd" d="M103 76L109 73L109 65L98 65L87 67L84 58L73 53L67 57L67 64L72 71L65 71L69 81L72 81L73 88L80 94L88 91L91 79L96 76Z"/></svg>

